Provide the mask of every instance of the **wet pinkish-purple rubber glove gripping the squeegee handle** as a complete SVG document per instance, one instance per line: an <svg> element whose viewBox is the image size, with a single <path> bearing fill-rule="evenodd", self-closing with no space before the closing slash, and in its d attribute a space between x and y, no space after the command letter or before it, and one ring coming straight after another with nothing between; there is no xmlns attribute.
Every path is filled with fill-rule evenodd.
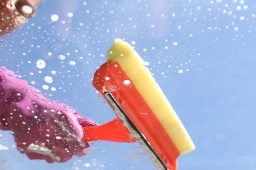
<svg viewBox="0 0 256 170"><path fill-rule="evenodd" d="M11 130L28 158L64 162L83 156L89 144L81 126L96 126L74 109L51 101L12 71L0 67L0 129Z"/></svg>

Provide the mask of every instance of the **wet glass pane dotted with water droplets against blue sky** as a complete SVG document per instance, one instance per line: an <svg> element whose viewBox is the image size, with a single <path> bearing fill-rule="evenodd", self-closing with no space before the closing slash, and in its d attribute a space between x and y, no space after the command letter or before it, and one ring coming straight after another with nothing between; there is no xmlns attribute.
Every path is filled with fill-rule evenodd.
<svg viewBox="0 0 256 170"><path fill-rule="evenodd" d="M10 8L1 8L0 63L48 99L98 124L115 118L91 82L114 39L125 39L196 144L179 169L256 168L256 2L46 0L14 30L25 20L11 20ZM47 163L20 154L0 131L0 169L155 168L139 143L89 144L85 156Z"/></svg>

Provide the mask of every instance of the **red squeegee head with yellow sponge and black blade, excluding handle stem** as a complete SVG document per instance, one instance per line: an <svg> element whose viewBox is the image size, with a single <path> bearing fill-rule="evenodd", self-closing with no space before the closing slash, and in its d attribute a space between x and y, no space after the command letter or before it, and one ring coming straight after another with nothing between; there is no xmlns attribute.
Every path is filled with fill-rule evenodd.
<svg viewBox="0 0 256 170"><path fill-rule="evenodd" d="M152 158L158 169L177 169L177 158L194 150L181 120L129 43L116 39L93 86Z"/></svg>

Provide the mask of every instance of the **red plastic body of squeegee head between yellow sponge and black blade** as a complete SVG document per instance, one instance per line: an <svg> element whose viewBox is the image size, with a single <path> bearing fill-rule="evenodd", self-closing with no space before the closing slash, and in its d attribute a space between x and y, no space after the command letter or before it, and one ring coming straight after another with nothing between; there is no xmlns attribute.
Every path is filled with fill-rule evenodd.
<svg viewBox="0 0 256 170"><path fill-rule="evenodd" d="M176 169L179 150L119 63L104 63L95 73L93 86L103 96L106 92L111 93L127 117L146 137L165 167Z"/></svg>

